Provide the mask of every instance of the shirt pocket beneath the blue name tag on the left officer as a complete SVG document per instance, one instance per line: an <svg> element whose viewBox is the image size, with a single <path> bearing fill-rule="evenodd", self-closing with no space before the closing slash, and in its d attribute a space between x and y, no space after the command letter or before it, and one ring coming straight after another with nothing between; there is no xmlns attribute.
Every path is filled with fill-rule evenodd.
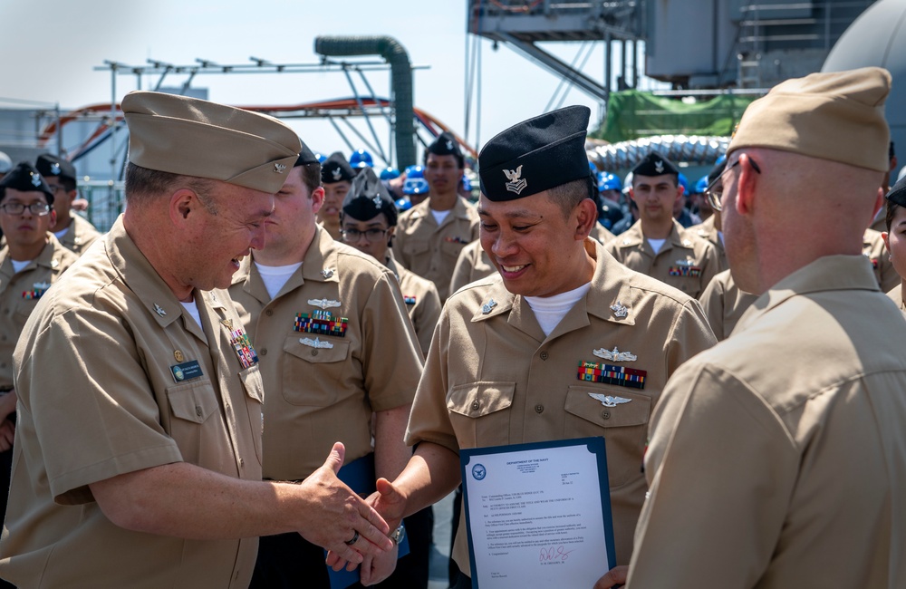
<svg viewBox="0 0 906 589"><path fill-rule="evenodd" d="M208 468L219 465L223 458L222 448L229 448L229 444L224 439L222 420L211 417L220 411L211 381L205 379L169 387L167 401L173 417L169 435L176 440L182 459Z"/></svg>

